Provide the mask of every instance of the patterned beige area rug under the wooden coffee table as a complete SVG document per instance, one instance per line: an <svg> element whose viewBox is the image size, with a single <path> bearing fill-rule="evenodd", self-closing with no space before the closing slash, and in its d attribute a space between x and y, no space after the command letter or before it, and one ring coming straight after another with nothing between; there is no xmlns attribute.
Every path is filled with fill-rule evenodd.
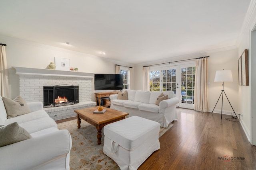
<svg viewBox="0 0 256 170"><path fill-rule="evenodd" d="M160 128L159 137L170 127ZM103 153L104 133L102 130L101 145L97 144L97 130L81 119L81 128L77 129L77 120L58 123L58 129L68 129L72 137L70 151L70 170L120 170L118 165Z"/></svg>

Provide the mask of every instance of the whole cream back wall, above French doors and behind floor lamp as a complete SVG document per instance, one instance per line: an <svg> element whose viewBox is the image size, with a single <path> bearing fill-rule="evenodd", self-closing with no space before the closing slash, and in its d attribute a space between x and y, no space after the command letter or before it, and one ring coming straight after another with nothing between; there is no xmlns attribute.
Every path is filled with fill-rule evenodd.
<svg viewBox="0 0 256 170"><path fill-rule="evenodd" d="M224 84L224 90L230 100L230 103L233 109L238 112L238 50L237 49L230 49L225 51L219 52L211 52L211 53L204 53L204 55L190 55L186 58L196 58L196 57L203 57L203 56L210 56L208 58L208 106L209 110L212 111L214 108L221 90L222 90L222 82L214 82L215 72L216 70L232 70L233 82L226 82ZM168 62L172 61L179 61L183 60L183 58L178 59L177 57L174 59L169 59ZM162 61L163 63L167 61ZM145 64L158 64L161 63L160 61L155 61L155 63ZM134 66L134 70L136 72L135 77L135 86L134 90L142 90L143 89L143 67L145 65L136 65ZM233 112L232 107L228 103L226 97L223 100L223 112L224 114L231 114ZM214 109L215 113L221 113L221 100L218 102L216 108Z"/></svg>

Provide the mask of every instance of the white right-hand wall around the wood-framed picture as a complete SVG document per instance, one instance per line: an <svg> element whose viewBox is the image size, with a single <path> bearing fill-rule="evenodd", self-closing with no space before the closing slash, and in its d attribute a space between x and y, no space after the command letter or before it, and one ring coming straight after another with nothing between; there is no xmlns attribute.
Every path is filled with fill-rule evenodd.
<svg viewBox="0 0 256 170"><path fill-rule="evenodd" d="M249 58L249 86L239 86L239 111L244 114L244 117L241 117L241 124L244 128L244 131L249 139L249 141L256 145L256 131L255 128L251 127L252 125L255 127L255 121L252 117L256 117L256 102L254 100L254 96L256 95L255 90L255 82L256 82L256 72L255 72L255 55L252 55L252 51L255 51L255 46L251 45L251 31L254 29L256 25L256 0L251 0L250 6L247 11L246 18L243 23L244 27L241 31L240 39L238 41L238 58L242 55L244 49L248 49L248 58ZM255 33L254 33L255 37ZM255 45L254 39L254 45ZM237 59L238 59L237 58ZM252 140L251 138L254 138Z"/></svg>

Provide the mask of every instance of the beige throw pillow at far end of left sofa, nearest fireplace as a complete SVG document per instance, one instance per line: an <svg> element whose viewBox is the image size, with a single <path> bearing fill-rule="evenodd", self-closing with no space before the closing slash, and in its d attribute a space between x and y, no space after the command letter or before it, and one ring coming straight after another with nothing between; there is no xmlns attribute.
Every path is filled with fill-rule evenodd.
<svg viewBox="0 0 256 170"><path fill-rule="evenodd" d="M14 100L3 97L3 102L7 113L7 119L31 112L26 101L20 96Z"/></svg>

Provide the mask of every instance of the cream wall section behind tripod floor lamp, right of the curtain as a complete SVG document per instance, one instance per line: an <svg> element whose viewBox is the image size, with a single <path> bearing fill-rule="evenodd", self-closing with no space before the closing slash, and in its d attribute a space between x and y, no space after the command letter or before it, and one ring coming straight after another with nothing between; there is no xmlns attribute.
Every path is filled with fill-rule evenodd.
<svg viewBox="0 0 256 170"><path fill-rule="evenodd" d="M233 76L233 82L224 82L224 90L232 105L236 115L238 115L238 50L227 50L215 53L208 53L208 106L212 111L214 108L221 90L222 82L214 82L216 70L231 70ZM221 113L221 100L220 98L214 112ZM223 111L224 114L230 114L233 112L232 107L228 103L226 96L223 98Z"/></svg>

